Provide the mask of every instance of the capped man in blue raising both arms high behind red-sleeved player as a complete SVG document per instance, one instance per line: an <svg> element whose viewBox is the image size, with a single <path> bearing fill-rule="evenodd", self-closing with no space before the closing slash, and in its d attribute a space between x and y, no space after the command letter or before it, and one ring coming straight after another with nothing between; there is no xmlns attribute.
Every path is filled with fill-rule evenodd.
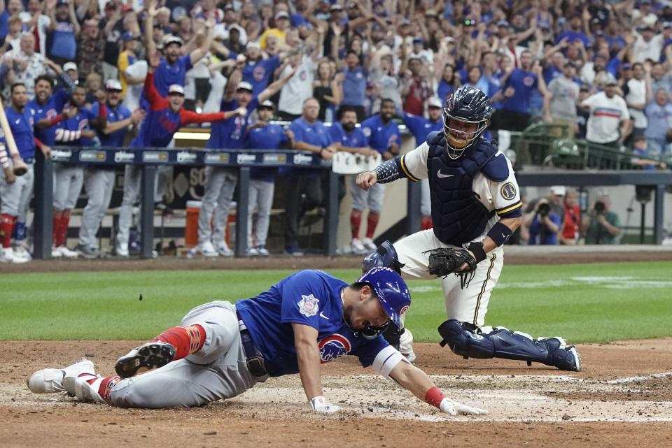
<svg viewBox="0 0 672 448"><path fill-rule="evenodd" d="M149 55L155 55L156 44L154 41L154 20L158 15L156 0L149 2L149 8L144 21L145 29L145 52ZM205 22L206 36L200 47L192 50L188 55L182 55L183 41L178 36L166 36L163 41L163 57L154 73L154 82L160 96L167 96L168 87L173 84L184 85L187 71L192 68L198 60L210 50L212 43L212 28L214 27L214 17L208 17ZM143 96L144 98L144 96ZM144 103L144 101L141 101Z"/></svg>

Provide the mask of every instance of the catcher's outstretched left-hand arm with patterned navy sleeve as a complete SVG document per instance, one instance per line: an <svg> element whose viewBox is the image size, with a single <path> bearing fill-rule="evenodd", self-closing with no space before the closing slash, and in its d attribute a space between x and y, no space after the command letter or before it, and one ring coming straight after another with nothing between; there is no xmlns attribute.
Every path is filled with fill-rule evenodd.
<svg viewBox="0 0 672 448"><path fill-rule="evenodd" d="M427 155L429 145L425 142L402 156L384 161L373 171L357 175L357 185L368 190L377 183L387 184L407 178L413 182L427 178Z"/></svg>

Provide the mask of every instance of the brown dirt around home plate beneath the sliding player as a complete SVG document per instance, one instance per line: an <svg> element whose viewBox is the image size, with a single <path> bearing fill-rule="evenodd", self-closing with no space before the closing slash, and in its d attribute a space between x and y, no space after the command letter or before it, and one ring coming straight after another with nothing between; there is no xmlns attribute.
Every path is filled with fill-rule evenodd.
<svg viewBox="0 0 672 448"><path fill-rule="evenodd" d="M297 375L189 410L124 410L27 390L34 370L84 355L109 373L135 343L0 342L0 446L672 446L672 338L581 345L580 373L417 345L417 365L447 395L490 411L482 417L440 414L350 356L323 366L325 395L344 407L332 416L307 411Z"/></svg>

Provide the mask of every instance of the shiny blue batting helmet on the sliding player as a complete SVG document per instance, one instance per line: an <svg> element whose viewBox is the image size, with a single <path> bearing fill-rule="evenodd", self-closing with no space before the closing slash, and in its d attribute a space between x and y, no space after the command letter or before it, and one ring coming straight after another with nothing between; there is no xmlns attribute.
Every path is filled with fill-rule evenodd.
<svg viewBox="0 0 672 448"><path fill-rule="evenodd" d="M387 316L397 328L401 328L400 316L411 305L411 293L401 275L390 268L377 267L368 270L356 283L370 284ZM379 331L382 330L384 328Z"/></svg>

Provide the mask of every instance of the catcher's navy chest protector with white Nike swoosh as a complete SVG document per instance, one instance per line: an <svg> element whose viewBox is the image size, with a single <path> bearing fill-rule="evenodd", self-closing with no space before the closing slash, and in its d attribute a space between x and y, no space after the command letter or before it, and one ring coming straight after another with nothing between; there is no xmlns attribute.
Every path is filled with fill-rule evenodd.
<svg viewBox="0 0 672 448"><path fill-rule="evenodd" d="M491 216L474 193L473 182L497 147L480 138L467 154L453 160L446 154L443 132L430 133L427 143L434 234L445 244L468 243L483 233Z"/></svg>

